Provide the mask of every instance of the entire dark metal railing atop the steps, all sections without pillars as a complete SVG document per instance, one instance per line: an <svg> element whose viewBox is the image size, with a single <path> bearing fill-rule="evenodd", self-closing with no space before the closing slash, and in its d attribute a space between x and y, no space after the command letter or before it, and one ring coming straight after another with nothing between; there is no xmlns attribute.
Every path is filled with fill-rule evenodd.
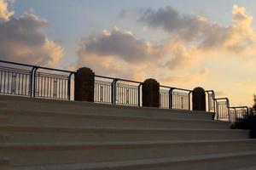
<svg viewBox="0 0 256 170"><path fill-rule="evenodd" d="M75 71L0 60L0 94L70 100L75 74ZM142 106L142 85L143 82L95 76L94 101ZM247 106L230 107L229 99L215 98L212 90L205 92L207 111L216 112L215 119L233 121L248 114ZM160 108L190 111L191 100L192 90L160 86Z"/></svg>

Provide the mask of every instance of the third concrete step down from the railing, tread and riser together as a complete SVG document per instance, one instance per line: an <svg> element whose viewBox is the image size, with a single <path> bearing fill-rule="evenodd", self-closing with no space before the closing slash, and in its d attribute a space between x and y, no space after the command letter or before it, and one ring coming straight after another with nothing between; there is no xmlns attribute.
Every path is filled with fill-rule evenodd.
<svg viewBox="0 0 256 170"><path fill-rule="evenodd" d="M107 141L157 141L247 139L249 131L230 129L183 128L116 128L116 127L38 127L0 126L0 142L107 142Z"/></svg>

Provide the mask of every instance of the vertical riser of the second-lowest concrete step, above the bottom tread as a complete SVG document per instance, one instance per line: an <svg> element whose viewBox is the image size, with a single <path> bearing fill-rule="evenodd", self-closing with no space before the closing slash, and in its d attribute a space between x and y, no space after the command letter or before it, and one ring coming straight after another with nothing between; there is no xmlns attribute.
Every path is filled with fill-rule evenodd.
<svg viewBox="0 0 256 170"><path fill-rule="evenodd" d="M87 163L100 161L125 161L156 157L199 156L220 154L236 151L255 150L253 143L222 143L222 144L153 144L153 145L122 145L122 146L67 146L55 150L41 148L0 148L0 160L8 158L12 166L57 163Z"/></svg>

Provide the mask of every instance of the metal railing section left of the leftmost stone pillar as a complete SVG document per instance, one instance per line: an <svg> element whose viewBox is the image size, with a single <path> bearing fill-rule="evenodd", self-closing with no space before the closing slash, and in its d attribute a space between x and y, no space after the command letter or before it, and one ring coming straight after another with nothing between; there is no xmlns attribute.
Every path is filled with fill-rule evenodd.
<svg viewBox="0 0 256 170"><path fill-rule="evenodd" d="M3 60L0 64L1 94L70 99L71 77L75 72Z"/></svg>

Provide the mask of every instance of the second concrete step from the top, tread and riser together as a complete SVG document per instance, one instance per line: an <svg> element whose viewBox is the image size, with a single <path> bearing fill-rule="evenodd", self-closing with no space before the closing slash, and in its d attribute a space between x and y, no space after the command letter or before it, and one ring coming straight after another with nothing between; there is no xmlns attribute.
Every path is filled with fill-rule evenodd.
<svg viewBox="0 0 256 170"><path fill-rule="evenodd" d="M229 122L196 119L156 118L147 116L104 116L57 111L20 111L0 109L9 124L63 127L133 127L228 129Z"/></svg>

